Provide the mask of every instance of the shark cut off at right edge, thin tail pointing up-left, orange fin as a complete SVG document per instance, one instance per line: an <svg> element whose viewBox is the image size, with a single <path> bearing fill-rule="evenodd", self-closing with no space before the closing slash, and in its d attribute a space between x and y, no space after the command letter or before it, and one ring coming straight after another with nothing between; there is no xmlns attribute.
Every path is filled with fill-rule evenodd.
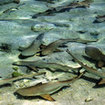
<svg viewBox="0 0 105 105"><path fill-rule="evenodd" d="M105 84L105 72L98 71L97 69L94 69L92 67L87 66L86 64L83 64L79 59L77 59L69 50L67 50L67 53L70 54L73 59L78 62L83 68L86 69L87 72L90 72L94 75L97 75L101 78L101 81L99 81L98 85Z"/></svg>

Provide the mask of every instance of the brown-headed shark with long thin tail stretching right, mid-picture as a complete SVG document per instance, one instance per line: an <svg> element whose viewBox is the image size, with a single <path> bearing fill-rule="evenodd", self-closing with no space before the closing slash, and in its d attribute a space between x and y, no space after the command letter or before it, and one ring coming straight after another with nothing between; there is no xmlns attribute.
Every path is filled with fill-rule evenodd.
<svg viewBox="0 0 105 105"><path fill-rule="evenodd" d="M83 39L79 39L79 38L75 38L75 39L59 39L56 40L52 43L50 43L49 45L45 46L42 50L41 50L41 55L49 55L53 52L59 52L61 51L60 49L57 49L59 46L62 46L68 42L82 42L82 43L89 43L89 42L96 42L97 40L83 40Z"/></svg>

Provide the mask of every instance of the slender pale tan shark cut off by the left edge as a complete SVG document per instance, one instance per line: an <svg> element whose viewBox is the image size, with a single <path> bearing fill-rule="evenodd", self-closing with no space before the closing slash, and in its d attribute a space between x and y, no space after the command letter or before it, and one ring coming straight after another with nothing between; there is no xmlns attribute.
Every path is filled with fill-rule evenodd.
<svg viewBox="0 0 105 105"><path fill-rule="evenodd" d="M7 83L11 84L13 81L16 81L16 80L19 80L19 79L23 79L23 78L32 78L34 76L41 75L41 74L45 74L45 72L34 73L34 74L26 74L26 75L19 76L19 77L3 79L3 80L0 80L0 85L7 84Z"/></svg>

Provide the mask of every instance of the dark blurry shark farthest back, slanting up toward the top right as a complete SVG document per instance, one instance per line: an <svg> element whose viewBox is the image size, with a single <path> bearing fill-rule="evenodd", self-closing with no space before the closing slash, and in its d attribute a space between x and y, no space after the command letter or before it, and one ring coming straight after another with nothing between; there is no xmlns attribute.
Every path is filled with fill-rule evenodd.
<svg viewBox="0 0 105 105"><path fill-rule="evenodd" d="M38 13L32 16L32 18L37 18L39 16L46 16L46 15L52 15L54 13L60 13L60 12L65 12L69 11L74 8L86 8L89 7L90 3L92 3L93 0L84 0L81 2L73 2L65 6L58 6L56 8L49 8L48 10Z"/></svg>

